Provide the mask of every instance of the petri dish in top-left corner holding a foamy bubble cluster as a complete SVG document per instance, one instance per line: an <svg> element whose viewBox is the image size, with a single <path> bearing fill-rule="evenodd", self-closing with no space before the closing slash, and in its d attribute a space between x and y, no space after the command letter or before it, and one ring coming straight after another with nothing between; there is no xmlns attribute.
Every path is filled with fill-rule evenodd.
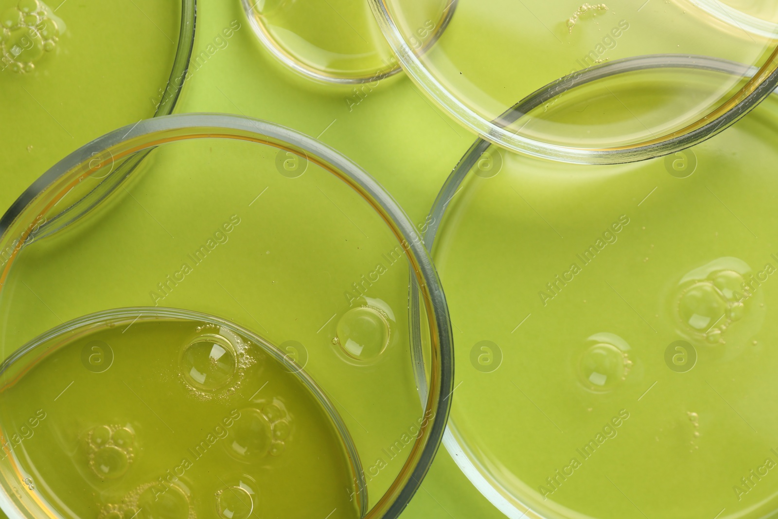
<svg viewBox="0 0 778 519"><path fill-rule="evenodd" d="M195 0L3 0L0 16L6 170L43 174L104 133L172 112L194 44Z"/></svg>

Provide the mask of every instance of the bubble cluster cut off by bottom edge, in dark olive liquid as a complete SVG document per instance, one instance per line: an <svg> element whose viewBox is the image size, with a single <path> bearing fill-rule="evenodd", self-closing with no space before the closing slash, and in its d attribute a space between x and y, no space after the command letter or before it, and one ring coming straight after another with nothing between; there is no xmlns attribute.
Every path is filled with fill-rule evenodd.
<svg viewBox="0 0 778 519"><path fill-rule="evenodd" d="M160 482L149 482L127 493L121 503L107 504L100 510L97 519L135 517L195 519L197 514L189 496L182 489L177 486L167 487Z"/></svg>

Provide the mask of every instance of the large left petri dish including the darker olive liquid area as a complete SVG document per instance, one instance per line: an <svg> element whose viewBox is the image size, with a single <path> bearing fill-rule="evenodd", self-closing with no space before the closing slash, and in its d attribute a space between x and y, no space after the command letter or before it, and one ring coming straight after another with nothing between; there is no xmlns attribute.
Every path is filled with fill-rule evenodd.
<svg viewBox="0 0 778 519"><path fill-rule="evenodd" d="M450 324L419 230L356 164L265 121L156 117L0 226L9 517L397 517L415 493Z"/></svg>

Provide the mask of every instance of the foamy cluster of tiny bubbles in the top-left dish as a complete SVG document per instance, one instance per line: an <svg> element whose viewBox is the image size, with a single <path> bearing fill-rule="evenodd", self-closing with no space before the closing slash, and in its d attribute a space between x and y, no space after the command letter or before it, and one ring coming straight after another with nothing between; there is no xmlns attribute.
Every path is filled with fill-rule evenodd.
<svg viewBox="0 0 778 519"><path fill-rule="evenodd" d="M35 62L57 46L63 24L40 0L19 0L0 17L2 68L32 72Z"/></svg>

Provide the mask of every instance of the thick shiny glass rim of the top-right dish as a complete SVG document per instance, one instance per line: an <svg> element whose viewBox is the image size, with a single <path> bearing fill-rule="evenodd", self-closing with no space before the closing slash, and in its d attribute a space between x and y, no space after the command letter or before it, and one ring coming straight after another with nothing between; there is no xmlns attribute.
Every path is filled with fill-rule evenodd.
<svg viewBox="0 0 778 519"><path fill-rule="evenodd" d="M741 117L762 102L766 96L778 86L778 46L767 58L759 72L720 107L712 110L706 116L688 124L667 135L656 139L639 142L629 146L612 148L577 148L560 146L548 142L529 139L517 133L510 132L495 121L475 113L470 107L457 100L438 82L419 60L417 54L402 36L387 7L388 0L368 0L376 16L378 25L397 55L398 61L408 76L422 89L434 103L453 117L464 128L479 135L481 139L516 153L534 156L541 159L557 160L580 164L618 164L653 159L694 146L710 139L713 135L737 122ZM681 54L684 55L684 54ZM596 68L592 67L592 68ZM590 68L577 72L583 74Z"/></svg>

